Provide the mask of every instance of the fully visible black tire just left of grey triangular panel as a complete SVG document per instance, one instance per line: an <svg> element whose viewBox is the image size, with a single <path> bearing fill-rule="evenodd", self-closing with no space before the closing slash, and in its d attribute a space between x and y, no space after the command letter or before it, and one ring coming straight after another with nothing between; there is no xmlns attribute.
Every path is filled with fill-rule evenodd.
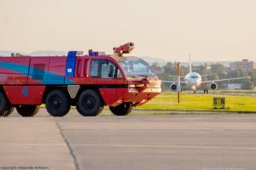
<svg viewBox="0 0 256 170"><path fill-rule="evenodd" d="M56 89L47 95L45 105L51 116L65 116L70 110L70 98L65 91Z"/></svg>

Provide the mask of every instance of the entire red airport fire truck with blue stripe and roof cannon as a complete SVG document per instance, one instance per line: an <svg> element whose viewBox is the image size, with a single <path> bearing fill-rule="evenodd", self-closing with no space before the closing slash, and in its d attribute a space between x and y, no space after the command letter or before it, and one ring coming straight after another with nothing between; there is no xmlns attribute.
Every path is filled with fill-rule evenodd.
<svg viewBox="0 0 256 170"><path fill-rule="evenodd" d="M160 80L143 59L129 54L132 42L113 54L89 50L84 55L0 57L0 116L14 109L34 116L44 104L51 116L65 116L75 106L82 116L97 116L104 105L125 116L160 94Z"/></svg>

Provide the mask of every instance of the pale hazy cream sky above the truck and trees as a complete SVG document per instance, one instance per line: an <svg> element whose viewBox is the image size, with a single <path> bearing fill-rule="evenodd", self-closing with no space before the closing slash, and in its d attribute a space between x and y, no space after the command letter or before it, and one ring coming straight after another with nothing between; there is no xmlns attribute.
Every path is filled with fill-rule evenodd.
<svg viewBox="0 0 256 170"><path fill-rule="evenodd" d="M193 60L256 60L255 0L0 0L0 50L112 48Z"/></svg>

